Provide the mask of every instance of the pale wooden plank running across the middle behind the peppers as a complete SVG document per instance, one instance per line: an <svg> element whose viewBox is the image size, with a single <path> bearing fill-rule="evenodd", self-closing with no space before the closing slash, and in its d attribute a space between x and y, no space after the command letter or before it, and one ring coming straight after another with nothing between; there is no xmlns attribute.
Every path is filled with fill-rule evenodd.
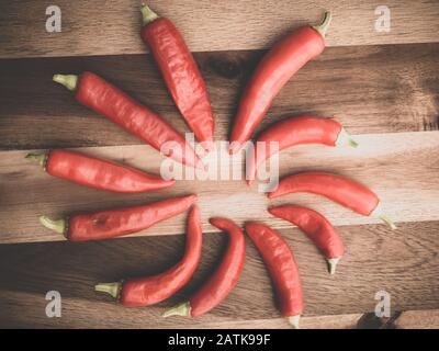
<svg viewBox="0 0 439 351"><path fill-rule="evenodd" d="M381 197L383 211L396 222L439 219L439 132L361 135L358 149L300 146L281 154L280 174L320 170L357 179L373 189ZM126 162L150 172L158 172L161 158L148 146L86 148L83 151ZM225 152L224 152L225 154ZM272 218L268 205L296 203L320 211L335 225L379 223L372 217L359 216L316 195L295 194L269 201L259 192L258 184L249 188L244 181L194 180L178 181L172 188L149 194L113 194L90 190L49 177L24 159L26 151L0 152L0 242L63 240L57 234L42 228L38 216L54 217L82 211L127 206L181 196L199 195L199 205L205 231L212 216L230 216L238 223L264 219L278 228L290 227ZM221 160L239 176L239 157ZM229 163L227 163L229 162ZM409 167L407 167L409 165ZM216 173L212 173L217 176ZM218 186L218 182L221 186ZM183 216L168 219L138 235L170 235L184 231Z"/></svg>

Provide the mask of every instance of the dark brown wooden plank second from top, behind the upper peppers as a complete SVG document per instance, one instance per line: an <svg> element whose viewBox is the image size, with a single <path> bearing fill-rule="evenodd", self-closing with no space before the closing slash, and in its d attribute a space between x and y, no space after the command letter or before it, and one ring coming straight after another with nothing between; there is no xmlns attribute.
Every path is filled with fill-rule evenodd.
<svg viewBox="0 0 439 351"><path fill-rule="evenodd" d="M195 55L215 110L217 139L226 139L240 91L261 54ZM286 84L258 131L280 117L306 113L336 115L352 134L436 131L438 55L439 44L329 48ZM153 60L143 55L2 60L0 148L139 144L52 82L55 72L86 69L188 131Z"/></svg>

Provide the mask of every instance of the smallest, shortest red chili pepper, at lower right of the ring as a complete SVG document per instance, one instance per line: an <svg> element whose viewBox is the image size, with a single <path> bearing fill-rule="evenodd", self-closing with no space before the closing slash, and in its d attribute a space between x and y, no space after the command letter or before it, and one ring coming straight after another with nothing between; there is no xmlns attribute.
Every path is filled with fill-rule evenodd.
<svg viewBox="0 0 439 351"><path fill-rule="evenodd" d="M325 256L329 273L336 272L345 247L337 230L325 216L314 210L294 205L272 207L268 212L301 228Z"/></svg>

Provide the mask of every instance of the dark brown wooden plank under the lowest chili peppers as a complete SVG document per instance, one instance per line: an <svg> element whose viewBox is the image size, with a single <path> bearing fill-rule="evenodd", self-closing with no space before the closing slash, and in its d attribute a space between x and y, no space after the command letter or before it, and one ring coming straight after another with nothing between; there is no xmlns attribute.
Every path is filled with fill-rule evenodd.
<svg viewBox="0 0 439 351"><path fill-rule="evenodd" d="M281 230L293 249L303 281L305 317L373 312L378 291L391 294L392 313L439 306L439 222L402 224L390 234L382 226L345 226L347 247L336 275L299 229ZM203 256L191 282L157 306L126 308L93 292L97 282L161 272L178 261L184 238L145 237L100 242L0 245L0 326L68 328L288 327L274 308L270 280L251 244L238 285L217 308L193 320L160 317L164 308L187 298L215 269L226 236L205 234ZM123 258L123 259L122 259ZM45 294L58 291L63 317L45 316ZM358 316L351 316L349 322ZM329 318L329 317L328 317ZM306 319L304 320L306 326ZM312 324L312 326L314 325ZM341 327L341 326L340 326Z"/></svg>

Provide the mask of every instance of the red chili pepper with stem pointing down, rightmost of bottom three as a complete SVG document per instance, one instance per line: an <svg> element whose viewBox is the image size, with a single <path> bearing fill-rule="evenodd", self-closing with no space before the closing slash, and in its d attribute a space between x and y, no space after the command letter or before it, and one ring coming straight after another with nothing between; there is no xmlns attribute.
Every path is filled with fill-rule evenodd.
<svg viewBox="0 0 439 351"><path fill-rule="evenodd" d="M270 272L282 315L294 329L299 329L303 294L293 252L281 235L269 226L250 222L245 227Z"/></svg>

